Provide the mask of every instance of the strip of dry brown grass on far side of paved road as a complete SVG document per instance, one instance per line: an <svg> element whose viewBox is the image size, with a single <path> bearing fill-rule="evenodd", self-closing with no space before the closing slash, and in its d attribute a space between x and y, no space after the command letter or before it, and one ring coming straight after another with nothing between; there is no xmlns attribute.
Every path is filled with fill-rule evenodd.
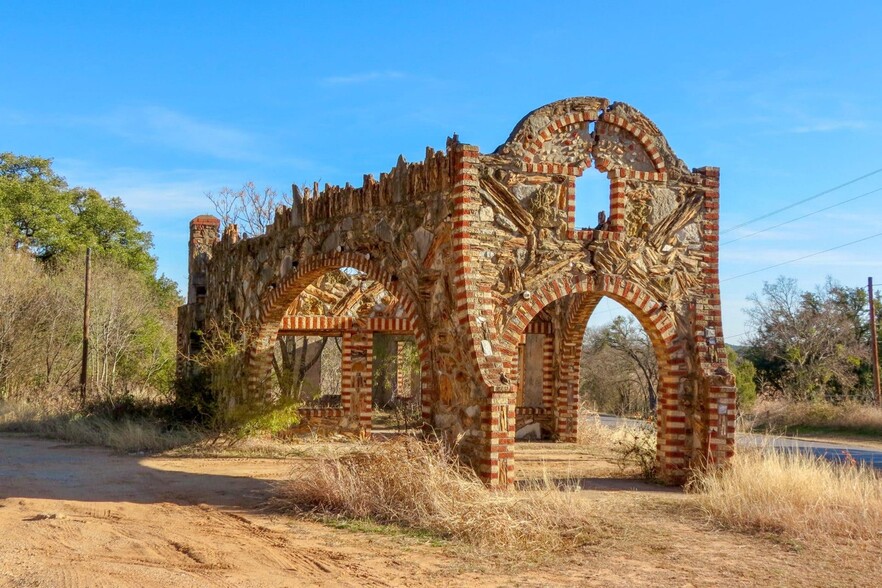
<svg viewBox="0 0 882 588"><path fill-rule="evenodd" d="M817 429L882 436L882 408L857 402L761 400L749 415L754 428Z"/></svg>

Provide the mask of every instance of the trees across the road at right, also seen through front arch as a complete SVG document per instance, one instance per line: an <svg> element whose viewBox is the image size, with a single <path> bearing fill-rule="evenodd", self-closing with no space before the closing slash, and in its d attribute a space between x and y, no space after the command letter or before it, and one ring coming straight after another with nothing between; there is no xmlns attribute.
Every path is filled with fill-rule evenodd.
<svg viewBox="0 0 882 588"><path fill-rule="evenodd" d="M750 335L728 347L738 400L758 395L801 402L872 402L869 298L827 278L814 290L779 277L748 298ZM876 294L876 307L882 301ZM877 331L882 333L882 324ZM597 410L651 416L658 369L649 338L633 317L589 327L582 349L583 400Z"/></svg>

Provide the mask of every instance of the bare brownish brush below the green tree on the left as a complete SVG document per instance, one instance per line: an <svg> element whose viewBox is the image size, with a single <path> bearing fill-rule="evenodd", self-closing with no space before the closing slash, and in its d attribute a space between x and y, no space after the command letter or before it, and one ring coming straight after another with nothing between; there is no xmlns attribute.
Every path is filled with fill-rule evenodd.
<svg viewBox="0 0 882 588"><path fill-rule="evenodd" d="M126 392L169 391L174 309L134 270L96 259L92 276L91 398L112 404ZM49 270L25 251L0 251L0 397L68 396L81 360L82 296L82 263Z"/></svg>

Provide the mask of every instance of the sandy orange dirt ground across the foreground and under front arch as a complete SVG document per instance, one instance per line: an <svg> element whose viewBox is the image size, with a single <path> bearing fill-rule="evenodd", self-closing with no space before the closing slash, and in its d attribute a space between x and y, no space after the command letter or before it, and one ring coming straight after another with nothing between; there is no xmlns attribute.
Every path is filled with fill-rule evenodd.
<svg viewBox="0 0 882 588"><path fill-rule="evenodd" d="M602 531L531 561L264 507L304 457L144 457L0 436L0 586L878 586L879 544L841 551L720 531L677 490L577 446L523 445L522 476L583 481ZM599 474L599 475L598 475Z"/></svg>

